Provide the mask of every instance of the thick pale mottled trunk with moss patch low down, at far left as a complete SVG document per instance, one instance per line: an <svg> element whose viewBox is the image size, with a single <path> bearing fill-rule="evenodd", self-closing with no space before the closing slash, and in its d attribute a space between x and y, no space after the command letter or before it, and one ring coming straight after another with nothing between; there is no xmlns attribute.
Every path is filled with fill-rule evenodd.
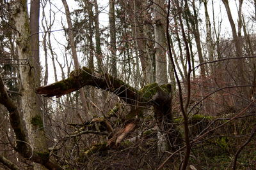
<svg viewBox="0 0 256 170"><path fill-rule="evenodd" d="M29 141L34 152L48 153L39 100L35 94L35 87L38 86L38 82L40 84L40 77L36 73L40 71L36 70L36 66L34 66L35 57L32 56L31 46L28 43L30 31L27 1L15 1L15 11L13 19L17 31L19 31L17 32L17 52L19 59L24 61L24 64L20 64L19 69L22 83L21 106L26 129L28 129ZM36 48L36 46L33 47ZM36 165L35 169L44 169L44 167Z"/></svg>

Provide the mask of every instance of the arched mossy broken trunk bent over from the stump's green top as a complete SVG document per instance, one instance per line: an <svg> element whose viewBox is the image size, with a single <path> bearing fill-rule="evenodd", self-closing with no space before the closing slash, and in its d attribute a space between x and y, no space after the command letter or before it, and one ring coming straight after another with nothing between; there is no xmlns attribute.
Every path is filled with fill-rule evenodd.
<svg viewBox="0 0 256 170"><path fill-rule="evenodd" d="M115 78L109 74L100 74L93 72L87 67L72 71L69 78L38 87L36 93L47 97L60 97L70 92L74 92L86 85L90 85L99 89L107 90L116 94L116 96L124 99L126 103L136 106L150 106L152 105L152 97L157 92L163 91L168 94L171 92L171 85L157 85L157 83L149 84L141 90L136 90L124 81Z"/></svg>

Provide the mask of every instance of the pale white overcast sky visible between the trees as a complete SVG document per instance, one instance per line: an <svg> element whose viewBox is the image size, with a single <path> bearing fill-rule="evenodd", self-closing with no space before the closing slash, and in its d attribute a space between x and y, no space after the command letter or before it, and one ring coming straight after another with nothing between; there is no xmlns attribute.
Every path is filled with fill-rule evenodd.
<svg viewBox="0 0 256 170"><path fill-rule="evenodd" d="M61 42L63 45L65 45L67 43L67 41L65 40L64 33L63 31L61 31L61 29L63 29L62 25L61 25L61 21L66 24L67 23L67 19L65 17L65 9L63 8L63 4L61 2L61 0L55 0L55 1L48 1L48 6L45 9L45 13L47 15L47 17L49 17L49 2L51 2L52 4L52 11L54 11L56 13L56 21L54 22L54 25L52 26L52 48L54 49L54 51L56 52L56 54L58 55L58 59L61 61L63 59L61 59L61 57L63 57L63 53L65 52L65 48L64 46L56 43L56 41ZM70 12L74 11L75 9L77 9L77 4L74 1L67 1L68 6L70 8ZM99 10L101 11L100 15L99 15L99 22L100 22L100 26L108 26L109 22L108 22L108 0L98 0L99 3ZM237 5L238 5L238 1L236 0L230 0L230 9L232 10L232 16L234 17L234 22L237 24ZM42 11L41 11L42 12ZM208 4L208 12L210 15L210 20L212 22L212 3L211 0L209 1ZM248 17L250 17L251 15L255 15L254 14L254 6L250 3L248 3L248 0L244 1L243 3L243 13L245 14L245 17L247 18L246 20L248 20ZM41 13L42 15L42 13ZM227 13L225 10L225 6L223 5L223 3L219 0L215 0L214 1L214 15L215 15L215 22L216 24L218 24L220 22L220 20L222 19L222 23L221 23L221 35L223 36L223 38L231 38L232 34L230 31L230 24L227 18ZM42 17L42 16L41 16ZM204 39L204 29L205 29L205 18L204 18L204 4L201 5L200 7L200 17L202 18L202 22L200 24L201 27L201 32L202 32L202 39ZM67 27L67 26L66 26ZM250 28L250 27L249 27ZM254 30L254 27L252 25L252 29ZM60 31L58 31L60 30ZM42 30L41 30L42 31ZM249 30L250 31L250 30ZM40 34L40 38L42 39L42 34ZM79 46L77 46L77 48L79 48ZM77 53L79 55L79 59L81 61L81 59L83 59L83 53ZM48 54L49 55L49 54ZM42 67L44 69L45 66L45 62L44 62L44 52L41 48L40 51L40 56L41 57L41 64ZM51 63L51 58L49 55L48 58L48 62L49 62L49 73L52 73L52 63ZM86 62L81 62L81 65L84 66L86 65ZM60 67L57 66L56 63L56 67L58 70L60 70ZM58 74L58 80L61 80L61 73L59 72ZM54 81L53 76L49 76L49 83L52 83Z"/></svg>

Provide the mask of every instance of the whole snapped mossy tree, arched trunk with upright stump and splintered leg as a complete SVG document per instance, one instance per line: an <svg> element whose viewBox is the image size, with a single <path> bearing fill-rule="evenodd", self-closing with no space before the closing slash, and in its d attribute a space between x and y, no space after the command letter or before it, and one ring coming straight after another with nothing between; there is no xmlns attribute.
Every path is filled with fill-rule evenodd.
<svg viewBox="0 0 256 170"><path fill-rule="evenodd" d="M109 146L118 145L129 132L133 131L138 120L143 117L143 110L150 106L154 107L157 125L161 131L166 132L175 129L173 125L170 126L172 124L172 85L170 84L151 83L143 89L137 90L109 74L100 74L83 67L72 71L66 80L39 87L36 89L36 93L47 97L60 97L87 85L116 94L125 103L132 106L131 111L125 117L123 128L114 130L113 136L109 136L111 138L108 141ZM168 132L168 134L168 138L172 140L173 133Z"/></svg>

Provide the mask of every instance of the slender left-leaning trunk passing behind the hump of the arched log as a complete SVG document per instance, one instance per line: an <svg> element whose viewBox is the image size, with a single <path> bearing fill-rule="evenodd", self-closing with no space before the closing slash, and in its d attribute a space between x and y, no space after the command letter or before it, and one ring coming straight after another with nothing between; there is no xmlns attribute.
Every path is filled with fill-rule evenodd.
<svg viewBox="0 0 256 170"><path fill-rule="evenodd" d="M73 34L73 30L72 30L72 22L71 22L70 11L69 11L69 8L68 8L67 1L62 0L62 3L65 7L65 13L66 13L67 22L68 22L68 39L69 39L69 43L70 43L71 50L72 50L72 57L73 57L73 60L74 60L74 66L75 66L75 69L79 69L79 62L78 62L78 59L77 59L76 45L74 43L74 34ZM83 109L85 110L84 113L86 115L86 118L89 118L88 107L87 107L87 104L86 104L87 102L86 102L86 98L85 98L85 95L84 95L84 90L79 89L79 92L80 92L80 96L81 96Z"/></svg>

